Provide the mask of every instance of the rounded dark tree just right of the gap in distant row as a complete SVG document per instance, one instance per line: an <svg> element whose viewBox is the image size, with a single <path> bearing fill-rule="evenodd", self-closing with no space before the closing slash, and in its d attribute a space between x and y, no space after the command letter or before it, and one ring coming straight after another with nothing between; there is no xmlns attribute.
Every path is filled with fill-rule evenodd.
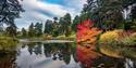
<svg viewBox="0 0 136 68"><path fill-rule="evenodd" d="M44 32L48 33L48 35L52 35L52 30L53 30L52 21L47 19L47 22L45 24L45 30L44 30Z"/></svg>

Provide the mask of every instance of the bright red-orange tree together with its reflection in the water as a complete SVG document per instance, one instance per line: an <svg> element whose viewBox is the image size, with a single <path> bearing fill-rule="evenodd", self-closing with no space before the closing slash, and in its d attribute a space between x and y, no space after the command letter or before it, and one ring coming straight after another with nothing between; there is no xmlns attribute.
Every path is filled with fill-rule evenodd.
<svg viewBox="0 0 136 68"><path fill-rule="evenodd" d="M76 42L77 42L77 59L86 67L89 68L96 57L100 54L95 52L96 50L96 36L101 30L92 28L91 21L85 21L77 25Z"/></svg>

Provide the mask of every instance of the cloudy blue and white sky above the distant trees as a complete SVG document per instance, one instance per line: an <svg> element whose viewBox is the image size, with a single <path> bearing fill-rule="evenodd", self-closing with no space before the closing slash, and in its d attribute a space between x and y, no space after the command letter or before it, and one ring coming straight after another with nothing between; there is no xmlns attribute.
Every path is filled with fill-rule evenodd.
<svg viewBox="0 0 136 68"><path fill-rule="evenodd" d="M21 28L27 28L32 23L46 23L46 19L61 17L70 13L72 17L78 15L86 0L23 0L21 4L25 12L21 13L21 18L15 19L15 24Z"/></svg>

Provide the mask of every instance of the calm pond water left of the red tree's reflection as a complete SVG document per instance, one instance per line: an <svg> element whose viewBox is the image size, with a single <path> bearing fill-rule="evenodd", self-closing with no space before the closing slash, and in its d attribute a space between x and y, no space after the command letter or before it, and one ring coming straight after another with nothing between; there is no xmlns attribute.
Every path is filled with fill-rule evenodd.
<svg viewBox="0 0 136 68"><path fill-rule="evenodd" d="M74 43L27 43L0 52L0 68L81 68Z"/></svg>

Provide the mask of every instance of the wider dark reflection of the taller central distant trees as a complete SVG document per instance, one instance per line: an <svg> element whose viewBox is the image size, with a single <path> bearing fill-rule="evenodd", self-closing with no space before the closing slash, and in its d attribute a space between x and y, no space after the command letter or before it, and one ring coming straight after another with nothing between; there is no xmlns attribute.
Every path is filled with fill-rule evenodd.
<svg viewBox="0 0 136 68"><path fill-rule="evenodd" d="M64 60L65 64L70 64L72 45L71 43L50 43L44 44L44 52L46 57L51 57L57 60Z"/></svg>

